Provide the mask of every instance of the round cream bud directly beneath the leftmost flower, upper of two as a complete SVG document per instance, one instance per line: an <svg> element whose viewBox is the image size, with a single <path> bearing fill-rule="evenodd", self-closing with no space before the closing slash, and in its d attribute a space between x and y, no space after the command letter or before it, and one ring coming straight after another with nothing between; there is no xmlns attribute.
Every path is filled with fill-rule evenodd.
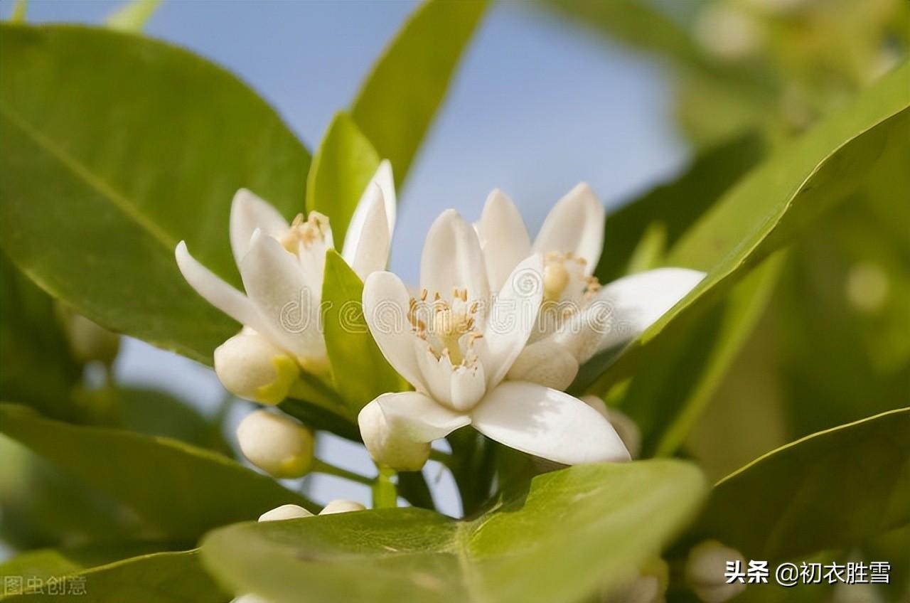
<svg viewBox="0 0 910 603"><path fill-rule="evenodd" d="M228 392L278 404L297 380L298 363L258 332L244 329L215 350L215 373Z"/></svg>

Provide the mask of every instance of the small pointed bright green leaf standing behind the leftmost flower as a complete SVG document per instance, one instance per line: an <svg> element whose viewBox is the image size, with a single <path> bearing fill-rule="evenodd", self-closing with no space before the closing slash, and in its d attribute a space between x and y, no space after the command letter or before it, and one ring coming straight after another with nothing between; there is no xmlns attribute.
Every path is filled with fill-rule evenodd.
<svg viewBox="0 0 910 603"><path fill-rule="evenodd" d="M347 113L337 113L309 170L307 210L329 216L332 238L339 249L350 217L377 168L376 149Z"/></svg>

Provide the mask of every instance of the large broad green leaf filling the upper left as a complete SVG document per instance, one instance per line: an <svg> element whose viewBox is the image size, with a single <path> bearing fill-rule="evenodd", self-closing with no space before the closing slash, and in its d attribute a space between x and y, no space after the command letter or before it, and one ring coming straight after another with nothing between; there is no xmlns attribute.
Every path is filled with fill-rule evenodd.
<svg viewBox="0 0 910 603"><path fill-rule="evenodd" d="M308 163L271 107L186 50L83 26L0 26L0 245L112 331L211 363L238 325L187 285L174 248L187 240L237 283L232 196L247 187L297 213Z"/></svg>

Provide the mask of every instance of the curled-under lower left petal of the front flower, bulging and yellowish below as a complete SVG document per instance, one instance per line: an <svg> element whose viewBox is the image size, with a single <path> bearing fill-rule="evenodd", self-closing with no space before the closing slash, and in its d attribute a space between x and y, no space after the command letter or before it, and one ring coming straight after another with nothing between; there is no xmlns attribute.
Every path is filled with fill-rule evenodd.
<svg viewBox="0 0 910 603"><path fill-rule="evenodd" d="M430 442L470 424L467 414L440 406L417 392L383 393L357 418L369 455L399 471L417 471L430 456Z"/></svg>

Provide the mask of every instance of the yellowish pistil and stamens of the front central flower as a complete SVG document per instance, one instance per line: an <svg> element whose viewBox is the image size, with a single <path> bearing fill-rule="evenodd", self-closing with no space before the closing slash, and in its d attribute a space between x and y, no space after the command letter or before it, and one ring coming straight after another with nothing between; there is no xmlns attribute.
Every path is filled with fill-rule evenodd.
<svg viewBox="0 0 910 603"><path fill-rule="evenodd" d="M427 295L427 290L423 290L420 300L410 300L408 319L414 331L430 343L430 351L437 358L449 356L453 366L476 362L474 341L483 337L475 328L480 302L469 303L466 289L454 289L451 301L437 294L435 300L428 302Z"/></svg>

